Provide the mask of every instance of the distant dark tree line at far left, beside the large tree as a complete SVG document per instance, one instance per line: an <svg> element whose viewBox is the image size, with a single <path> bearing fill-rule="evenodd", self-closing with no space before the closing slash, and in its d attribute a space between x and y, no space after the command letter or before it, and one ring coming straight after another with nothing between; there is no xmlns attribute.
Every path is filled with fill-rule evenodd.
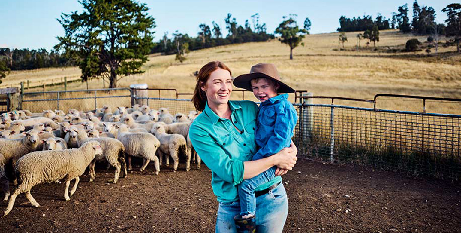
<svg viewBox="0 0 461 233"><path fill-rule="evenodd" d="M38 50L0 48L0 63L12 71L74 65L71 60L58 52L53 50L48 52L44 48Z"/></svg>

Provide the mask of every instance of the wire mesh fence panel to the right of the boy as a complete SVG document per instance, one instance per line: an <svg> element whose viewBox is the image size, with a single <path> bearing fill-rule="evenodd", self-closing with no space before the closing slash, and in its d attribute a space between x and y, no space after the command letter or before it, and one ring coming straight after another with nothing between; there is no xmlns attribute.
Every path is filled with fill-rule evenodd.
<svg viewBox="0 0 461 233"><path fill-rule="evenodd" d="M314 160L461 178L461 115L295 104L296 143Z"/></svg>

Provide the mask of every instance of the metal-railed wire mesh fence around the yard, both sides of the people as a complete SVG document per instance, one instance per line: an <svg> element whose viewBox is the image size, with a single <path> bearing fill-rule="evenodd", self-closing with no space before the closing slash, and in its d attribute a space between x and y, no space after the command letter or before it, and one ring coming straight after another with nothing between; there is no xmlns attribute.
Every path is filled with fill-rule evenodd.
<svg viewBox="0 0 461 233"><path fill-rule="evenodd" d="M23 108L92 110L103 105L129 106L133 102L150 108L169 108L171 114L195 110L190 99L176 89L148 89L159 97L136 96L133 90L94 89L29 92L21 95ZM171 92L172 98L161 93ZM243 92L244 90L242 90ZM461 178L461 115L427 113L426 100L461 102L461 99L428 96L377 94L373 99L295 94L299 121L293 140L299 156L334 163L355 163L412 175L443 179ZM381 97L423 100L423 111L398 111L377 108ZM176 98L174 98L176 97ZM314 104L309 99L331 99L331 104ZM335 100L367 102L370 108L335 104ZM88 102L89 101L89 102ZM79 107L75 107L79 105Z"/></svg>

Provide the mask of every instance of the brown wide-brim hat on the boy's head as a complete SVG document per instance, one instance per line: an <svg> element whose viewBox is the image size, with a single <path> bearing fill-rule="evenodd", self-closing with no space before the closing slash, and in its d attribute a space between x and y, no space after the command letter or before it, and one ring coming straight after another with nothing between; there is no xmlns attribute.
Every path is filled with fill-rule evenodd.
<svg viewBox="0 0 461 233"><path fill-rule="evenodd" d="M277 90L278 93L295 92L293 88L280 81L277 68L275 68L274 64L271 63L258 63L254 66L251 66L249 74L242 74L234 78L234 85L239 88L253 91L251 89L250 81L254 78L269 78L272 81L278 83L280 86Z"/></svg>

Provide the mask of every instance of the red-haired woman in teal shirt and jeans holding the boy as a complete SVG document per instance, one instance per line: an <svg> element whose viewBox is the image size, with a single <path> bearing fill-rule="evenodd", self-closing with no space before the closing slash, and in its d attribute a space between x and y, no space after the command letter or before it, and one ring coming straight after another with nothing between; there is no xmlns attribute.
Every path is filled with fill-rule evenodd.
<svg viewBox="0 0 461 233"><path fill-rule="evenodd" d="M292 143L275 155L251 161L257 148L254 142L258 106L252 101L230 101L231 70L219 61L203 66L197 77L194 102L202 113L190 126L192 144L212 171L213 192L219 201L217 233L235 233L233 217L240 213L237 186L272 166L275 179L259 186L256 193L256 232L282 232L288 215L288 199L280 175L296 163Z"/></svg>

